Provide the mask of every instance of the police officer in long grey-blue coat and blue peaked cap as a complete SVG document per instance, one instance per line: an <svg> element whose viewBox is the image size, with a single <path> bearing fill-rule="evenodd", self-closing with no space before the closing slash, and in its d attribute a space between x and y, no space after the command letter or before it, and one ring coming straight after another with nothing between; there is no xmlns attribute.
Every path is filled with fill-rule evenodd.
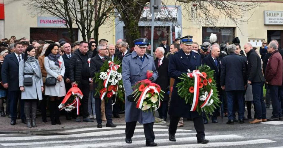
<svg viewBox="0 0 283 148"><path fill-rule="evenodd" d="M133 41L135 44L134 51L125 55L122 61L122 79L126 92L125 99L125 120L126 120L126 143L132 143L132 137L135 131L136 122L144 125L144 135L146 146L157 146L154 142L153 132L154 115L153 112L143 112L136 108L134 97L132 95L132 86L137 82L147 78L147 70L153 71L150 81L158 78L153 57L146 53L147 39L140 38Z"/></svg>

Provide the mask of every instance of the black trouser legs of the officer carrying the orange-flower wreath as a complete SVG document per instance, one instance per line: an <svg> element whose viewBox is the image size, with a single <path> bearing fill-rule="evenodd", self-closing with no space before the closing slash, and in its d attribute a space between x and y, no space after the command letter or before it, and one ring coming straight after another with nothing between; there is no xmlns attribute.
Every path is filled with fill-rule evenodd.
<svg viewBox="0 0 283 148"><path fill-rule="evenodd" d="M170 119L170 126L169 126L169 133L172 135L176 134L177 125L180 120L180 117L171 116ZM200 139L205 136L204 134L204 124L203 124L203 117L199 116L197 118L193 118L195 130L197 131L197 139Z"/></svg>

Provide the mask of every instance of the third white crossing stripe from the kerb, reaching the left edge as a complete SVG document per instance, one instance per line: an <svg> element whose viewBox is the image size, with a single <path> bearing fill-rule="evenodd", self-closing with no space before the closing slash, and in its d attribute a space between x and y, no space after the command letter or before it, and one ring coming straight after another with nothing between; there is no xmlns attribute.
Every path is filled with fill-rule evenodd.
<svg viewBox="0 0 283 148"><path fill-rule="evenodd" d="M180 135L196 135L197 133L176 133L176 136ZM211 132L205 133L212 134ZM166 134L155 134L155 137L162 137L162 136L168 136L168 133ZM134 135L134 138L144 138L144 135ZM42 144L55 144L55 143L73 143L73 142L86 142L86 141L103 141L103 140L116 140L121 139L122 141L125 140L125 136L119 136L119 137L109 137L109 138L89 138L89 139L74 139L74 140L62 140L62 141L40 141L40 142L19 142L19 143L0 143L2 146L20 146L20 145L42 145Z"/></svg>

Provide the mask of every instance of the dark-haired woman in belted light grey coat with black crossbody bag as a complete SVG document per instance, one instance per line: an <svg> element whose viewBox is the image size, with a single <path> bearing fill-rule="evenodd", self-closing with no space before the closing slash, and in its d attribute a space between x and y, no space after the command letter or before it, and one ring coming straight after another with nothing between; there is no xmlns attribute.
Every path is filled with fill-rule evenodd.
<svg viewBox="0 0 283 148"><path fill-rule="evenodd" d="M39 62L35 58L35 48L32 45L27 47L24 60L21 60L19 65L19 86L22 92L21 99L24 99L27 127L36 127L36 105L37 99L42 100L43 82ZM31 118L30 111L32 111Z"/></svg>

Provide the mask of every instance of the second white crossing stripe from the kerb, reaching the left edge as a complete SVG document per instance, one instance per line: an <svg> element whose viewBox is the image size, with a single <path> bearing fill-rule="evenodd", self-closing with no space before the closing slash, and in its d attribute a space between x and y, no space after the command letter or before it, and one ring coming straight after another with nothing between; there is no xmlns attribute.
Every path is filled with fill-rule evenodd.
<svg viewBox="0 0 283 148"><path fill-rule="evenodd" d="M70 134L70 135L48 135L48 136L25 136L25 137L1 137L1 141L27 141L27 140L44 140L44 139L58 139L58 138L77 138L77 137L91 137L91 136L107 136L107 135L117 135L125 134L125 129L123 130L113 130L111 131L99 131L99 132L88 132L81 134ZM168 129L154 129L154 132L168 132ZM191 130L177 129L177 132L190 132ZM135 133L142 132L144 129L135 129Z"/></svg>

